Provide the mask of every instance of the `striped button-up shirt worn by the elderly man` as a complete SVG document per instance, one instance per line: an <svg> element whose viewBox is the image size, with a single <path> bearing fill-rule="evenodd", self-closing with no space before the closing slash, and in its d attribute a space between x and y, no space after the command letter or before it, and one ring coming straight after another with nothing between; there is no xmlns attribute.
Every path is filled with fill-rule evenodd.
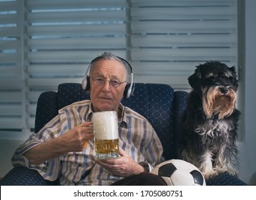
<svg viewBox="0 0 256 200"><path fill-rule="evenodd" d="M151 166L159 164L162 159L162 144L149 121L137 112L122 104L122 119L119 119L119 146L132 158L139 162L147 162ZM109 173L95 164L96 157L93 144L89 143L80 152L49 159L43 164L34 165L23 154L42 142L54 139L84 121L92 119L91 101L79 101L59 110L59 114L46 124L38 133L31 134L24 144L16 149L12 158L14 166L27 166L36 169L46 180L54 181L59 177L61 185L109 185L122 179ZM84 174L87 176L84 178Z"/></svg>

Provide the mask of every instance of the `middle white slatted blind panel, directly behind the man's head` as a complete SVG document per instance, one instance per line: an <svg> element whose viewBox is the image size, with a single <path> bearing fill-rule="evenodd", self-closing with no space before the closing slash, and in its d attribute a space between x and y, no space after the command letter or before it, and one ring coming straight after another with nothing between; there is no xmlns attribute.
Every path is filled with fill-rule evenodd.
<svg viewBox="0 0 256 200"><path fill-rule="evenodd" d="M41 91L81 83L89 62L112 51L126 56L126 1L27 1L29 126Z"/></svg>

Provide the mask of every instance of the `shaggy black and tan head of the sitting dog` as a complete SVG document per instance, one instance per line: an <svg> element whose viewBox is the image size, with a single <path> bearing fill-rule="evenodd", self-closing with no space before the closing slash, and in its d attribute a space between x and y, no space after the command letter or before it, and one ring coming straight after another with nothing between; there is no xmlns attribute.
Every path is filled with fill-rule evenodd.
<svg viewBox="0 0 256 200"><path fill-rule="evenodd" d="M189 84L202 94L202 106L207 118L218 115L219 119L230 116L237 99L237 74L235 66L228 67L220 61L208 61L196 66L189 76Z"/></svg>

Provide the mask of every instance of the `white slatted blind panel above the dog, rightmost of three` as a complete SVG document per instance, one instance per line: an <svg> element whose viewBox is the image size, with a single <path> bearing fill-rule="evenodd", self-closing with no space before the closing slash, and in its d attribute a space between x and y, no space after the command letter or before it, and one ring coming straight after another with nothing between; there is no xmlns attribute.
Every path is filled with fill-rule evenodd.
<svg viewBox="0 0 256 200"><path fill-rule="evenodd" d="M142 82L189 89L208 60L237 66L237 1L132 0L131 57Z"/></svg>

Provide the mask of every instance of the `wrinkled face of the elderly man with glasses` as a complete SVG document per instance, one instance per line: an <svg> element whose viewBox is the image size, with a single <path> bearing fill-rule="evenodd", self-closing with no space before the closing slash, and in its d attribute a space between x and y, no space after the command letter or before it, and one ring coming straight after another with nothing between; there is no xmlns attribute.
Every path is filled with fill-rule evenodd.
<svg viewBox="0 0 256 200"><path fill-rule="evenodd" d="M117 111L118 113L118 106L124 96L127 83L112 87L109 85L109 80L127 81L125 66L119 61L100 59L94 63L90 77L90 97L94 111ZM96 85L92 80L95 78L103 78L107 81L102 85Z"/></svg>

